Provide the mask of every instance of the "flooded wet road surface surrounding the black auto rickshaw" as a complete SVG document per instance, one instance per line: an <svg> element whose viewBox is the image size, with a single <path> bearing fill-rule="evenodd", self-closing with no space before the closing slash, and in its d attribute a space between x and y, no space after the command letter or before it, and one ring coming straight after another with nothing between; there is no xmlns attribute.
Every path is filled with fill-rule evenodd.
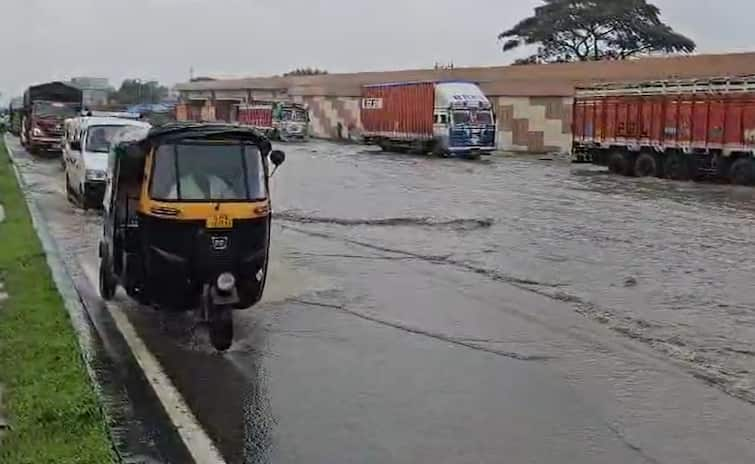
<svg viewBox="0 0 755 464"><path fill-rule="evenodd" d="M231 351L118 300L228 462L755 462L753 189L282 148ZM100 218L23 157L81 280Z"/></svg>

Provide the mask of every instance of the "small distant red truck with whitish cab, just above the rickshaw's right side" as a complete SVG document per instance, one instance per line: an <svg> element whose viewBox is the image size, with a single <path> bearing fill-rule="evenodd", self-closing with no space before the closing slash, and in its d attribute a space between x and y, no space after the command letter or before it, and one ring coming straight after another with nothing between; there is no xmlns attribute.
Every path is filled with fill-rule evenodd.
<svg viewBox="0 0 755 464"><path fill-rule="evenodd" d="M239 124L261 130L272 140L304 141L309 138L309 111L290 102L256 101L237 105Z"/></svg>

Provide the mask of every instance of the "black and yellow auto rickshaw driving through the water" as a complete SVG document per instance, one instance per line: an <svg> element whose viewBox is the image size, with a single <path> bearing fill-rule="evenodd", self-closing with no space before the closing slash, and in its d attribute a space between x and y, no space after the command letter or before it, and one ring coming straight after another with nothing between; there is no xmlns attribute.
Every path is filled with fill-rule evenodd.
<svg viewBox="0 0 755 464"><path fill-rule="evenodd" d="M113 144L100 241L100 293L196 310L219 351L233 310L262 298L270 249L268 183L285 154L251 128L174 123ZM270 163L274 166L271 172Z"/></svg>

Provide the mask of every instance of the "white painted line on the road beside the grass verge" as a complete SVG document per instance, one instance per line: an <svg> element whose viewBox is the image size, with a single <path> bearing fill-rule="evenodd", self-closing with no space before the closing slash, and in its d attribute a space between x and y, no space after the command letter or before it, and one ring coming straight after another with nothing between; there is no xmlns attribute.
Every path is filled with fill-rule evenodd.
<svg viewBox="0 0 755 464"><path fill-rule="evenodd" d="M89 280L94 288L99 288L98 271L93 269L91 265L83 262L83 260L79 260L79 263L84 270L87 280ZM149 351L144 341L139 338L136 329L128 320L123 310L116 304L105 302L105 305L113 316L118 330L123 334L123 338L126 339L126 343L134 354L136 362L139 363L142 371L144 371L152 389L157 394L171 422L176 426L176 431L181 436L186 448L188 448L189 453L197 464L225 464L225 460L220 455L215 444L202 426L199 425L191 409L186 405L183 397L167 374L165 374L162 366L160 366L160 362Z"/></svg>

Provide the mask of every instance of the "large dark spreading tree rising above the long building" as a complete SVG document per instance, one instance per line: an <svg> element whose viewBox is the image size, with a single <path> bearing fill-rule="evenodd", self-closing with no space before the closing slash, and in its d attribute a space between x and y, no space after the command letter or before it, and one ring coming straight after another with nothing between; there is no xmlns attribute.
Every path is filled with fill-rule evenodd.
<svg viewBox="0 0 755 464"><path fill-rule="evenodd" d="M543 0L535 14L498 35L507 52L537 45L519 63L623 60L652 52L695 50L695 42L661 21L647 0Z"/></svg>

